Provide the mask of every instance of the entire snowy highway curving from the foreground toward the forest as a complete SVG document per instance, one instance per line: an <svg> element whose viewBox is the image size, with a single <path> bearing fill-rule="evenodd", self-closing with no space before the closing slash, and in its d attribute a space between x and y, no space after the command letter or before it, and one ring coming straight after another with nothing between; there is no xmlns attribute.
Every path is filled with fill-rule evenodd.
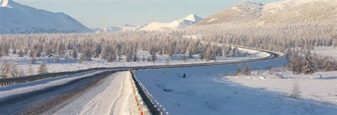
<svg viewBox="0 0 337 115"><path fill-rule="evenodd" d="M217 45L228 45L223 43ZM132 97L131 77L127 70L197 67L260 62L283 58L281 53L247 48L268 53L266 57L234 62L211 62L188 65L114 67L88 70L22 84L0 87L0 114L139 114ZM43 85L46 84L46 85ZM16 91L16 92L11 92ZM25 92L26 91L26 92ZM21 93L22 92L22 93ZM6 95L7 94L7 95Z"/></svg>

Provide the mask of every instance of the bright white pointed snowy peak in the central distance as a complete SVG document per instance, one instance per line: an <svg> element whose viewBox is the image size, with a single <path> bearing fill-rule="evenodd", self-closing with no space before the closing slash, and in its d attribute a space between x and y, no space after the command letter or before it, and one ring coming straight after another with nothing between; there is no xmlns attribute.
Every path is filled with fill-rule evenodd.
<svg viewBox="0 0 337 115"><path fill-rule="evenodd" d="M144 28L141 28L141 31L164 31L167 29L183 28L186 26L191 26L194 23L198 23L202 20L203 18L200 18L195 14L190 14L185 18L178 19L171 23L159 23L159 22L149 23L149 25L145 26Z"/></svg>

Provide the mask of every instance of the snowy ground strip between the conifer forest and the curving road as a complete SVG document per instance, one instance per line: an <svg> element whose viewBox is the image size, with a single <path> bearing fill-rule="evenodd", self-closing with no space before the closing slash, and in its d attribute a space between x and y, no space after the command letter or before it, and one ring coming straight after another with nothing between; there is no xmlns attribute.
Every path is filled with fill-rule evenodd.
<svg viewBox="0 0 337 115"><path fill-rule="evenodd" d="M243 50L243 53L246 53L247 50ZM247 52L250 53L250 52ZM241 57L217 57L218 62L229 62L237 60L249 60L264 57L266 55L260 55L261 53L253 52L250 55L244 55ZM68 55L68 54L66 54ZM53 57L37 57L36 64L31 64L31 57L25 55L24 57L18 57L17 54L10 53L9 56L1 57L0 63L6 60L17 65L18 70L23 70L25 75L37 74L38 67L41 64L41 60L46 60L47 71L48 72L66 72L66 71L75 71L75 70L85 70L95 67L134 67L134 66L146 66L146 65L181 65L181 64L191 64L191 63L205 63L198 59L199 55L193 55L192 58L186 57L186 60L183 59L183 55L173 55L171 61L168 62L168 55L157 55L156 62L148 62L148 57L150 57L149 52L139 51L137 54L139 56L139 62L126 62L125 57L121 61L117 62L107 62L107 60L102 60L100 58L92 58L92 61L86 61L80 63L78 59L73 59L70 57L68 60L65 58L60 58L56 62ZM214 62L214 60L210 60ZM33 73L30 73L29 67L33 68Z"/></svg>

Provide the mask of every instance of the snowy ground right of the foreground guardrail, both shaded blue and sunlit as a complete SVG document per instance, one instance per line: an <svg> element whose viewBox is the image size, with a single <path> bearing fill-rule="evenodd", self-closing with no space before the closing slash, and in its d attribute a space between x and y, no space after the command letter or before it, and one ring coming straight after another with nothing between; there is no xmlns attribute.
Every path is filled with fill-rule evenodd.
<svg viewBox="0 0 337 115"><path fill-rule="evenodd" d="M252 70L282 67L283 60L250 63ZM139 70L135 75L170 114L336 114L337 106L311 99L287 97L294 79L223 77L238 65ZM245 65L242 65L245 67ZM331 72L330 74L335 74ZM183 78L186 74L186 78ZM330 93L324 101L336 99L336 80L330 74L317 80L299 81L304 97ZM269 80L270 79L270 80ZM286 82L284 82L286 81ZM240 83L241 82L241 83ZM255 83L256 82L256 83ZM283 85L286 85L282 87ZM328 87L318 86L329 85ZM165 91L164 91L165 89ZM319 95L321 96L321 95ZM316 99L320 101L320 99Z"/></svg>

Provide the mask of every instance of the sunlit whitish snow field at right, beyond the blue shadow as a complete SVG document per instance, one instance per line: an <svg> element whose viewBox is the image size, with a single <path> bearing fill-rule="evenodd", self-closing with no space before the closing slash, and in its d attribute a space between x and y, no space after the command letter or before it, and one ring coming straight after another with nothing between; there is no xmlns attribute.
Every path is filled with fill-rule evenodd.
<svg viewBox="0 0 337 115"><path fill-rule="evenodd" d="M225 76L221 80L235 82L245 87L280 92L284 95L289 95L297 83L301 98L337 105L337 71L316 72L313 75L261 72L260 75Z"/></svg>

